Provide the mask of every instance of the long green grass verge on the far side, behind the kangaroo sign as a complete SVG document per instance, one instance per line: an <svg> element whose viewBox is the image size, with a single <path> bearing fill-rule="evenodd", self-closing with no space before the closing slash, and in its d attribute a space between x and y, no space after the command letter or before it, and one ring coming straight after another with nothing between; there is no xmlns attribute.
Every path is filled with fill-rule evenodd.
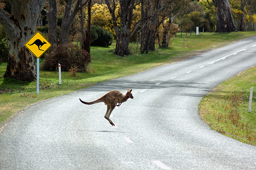
<svg viewBox="0 0 256 170"><path fill-rule="evenodd" d="M183 34L184 35L184 34ZM170 47L140 54L140 46L130 43L132 55L120 57L109 48L91 47L90 71L77 73L76 77L69 72L62 72L62 84L59 85L59 73L40 70L39 94L36 93L36 81L24 82L0 78L0 125L10 119L19 110L31 104L67 94L78 89L90 87L118 77L135 74L150 68L184 60L198 53L227 45L236 40L256 36L256 32L204 33L199 36L177 35L170 41ZM157 45L156 45L157 46ZM40 65L43 59L40 59ZM7 63L0 65L0 77L4 75Z"/></svg>

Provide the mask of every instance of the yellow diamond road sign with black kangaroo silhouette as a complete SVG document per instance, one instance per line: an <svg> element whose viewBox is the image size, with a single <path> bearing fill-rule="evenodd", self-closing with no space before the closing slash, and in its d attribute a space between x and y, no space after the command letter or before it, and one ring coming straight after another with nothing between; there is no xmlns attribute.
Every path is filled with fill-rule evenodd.
<svg viewBox="0 0 256 170"><path fill-rule="evenodd" d="M41 57L51 46L51 43L40 32L36 32L25 44L25 47L37 58Z"/></svg>

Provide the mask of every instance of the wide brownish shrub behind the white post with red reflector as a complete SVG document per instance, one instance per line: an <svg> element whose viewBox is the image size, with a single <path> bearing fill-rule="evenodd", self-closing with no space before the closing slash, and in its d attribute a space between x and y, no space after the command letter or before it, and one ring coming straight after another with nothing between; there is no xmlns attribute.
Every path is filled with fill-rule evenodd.
<svg viewBox="0 0 256 170"><path fill-rule="evenodd" d="M59 63L61 64L61 71L69 71L72 66L76 66L78 72L85 72L89 62L91 62L91 55L87 51L69 43L58 45L52 52L48 53L41 68L42 70L55 71Z"/></svg>

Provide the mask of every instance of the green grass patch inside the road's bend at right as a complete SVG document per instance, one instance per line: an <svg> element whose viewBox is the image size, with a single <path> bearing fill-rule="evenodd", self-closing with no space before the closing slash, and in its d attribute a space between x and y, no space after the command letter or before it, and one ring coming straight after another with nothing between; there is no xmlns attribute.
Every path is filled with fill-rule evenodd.
<svg viewBox="0 0 256 170"><path fill-rule="evenodd" d="M202 99L200 115L217 132L256 146L256 97L248 112L256 66L222 82Z"/></svg>

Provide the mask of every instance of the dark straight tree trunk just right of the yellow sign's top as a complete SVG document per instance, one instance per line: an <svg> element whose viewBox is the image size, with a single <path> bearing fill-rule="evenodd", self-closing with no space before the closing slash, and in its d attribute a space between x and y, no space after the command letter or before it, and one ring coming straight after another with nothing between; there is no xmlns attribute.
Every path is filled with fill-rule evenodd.
<svg viewBox="0 0 256 170"><path fill-rule="evenodd" d="M57 32L57 6L56 0L49 0L49 11L48 11L48 40L52 45L58 45L58 32ZM50 48L49 50L51 51Z"/></svg>

